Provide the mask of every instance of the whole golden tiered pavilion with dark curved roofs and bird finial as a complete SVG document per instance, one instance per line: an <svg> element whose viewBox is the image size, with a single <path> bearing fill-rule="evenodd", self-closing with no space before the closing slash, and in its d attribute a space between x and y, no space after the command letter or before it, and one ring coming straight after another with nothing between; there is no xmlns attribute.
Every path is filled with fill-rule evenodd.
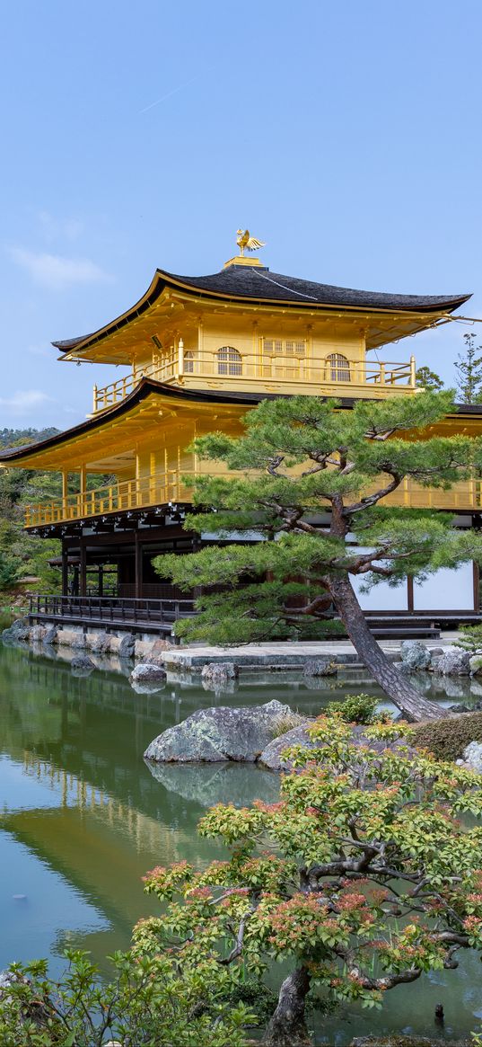
<svg viewBox="0 0 482 1047"><path fill-rule="evenodd" d="M238 230L237 243L239 254L220 272L180 276L158 269L122 315L53 342L64 362L129 370L94 386L86 421L0 455L3 467L62 474L62 496L26 511L29 533L62 540L62 597L55 614L39 598L38 616L50 607L51 618L109 621L110 615L118 622L123 615L133 625L140 616L154 630L189 612L192 604L183 598L181 606L182 594L152 561L219 540L183 529L190 497L184 478L216 468L197 459L192 440L214 429L239 433L246 411L267 398L337 397L340 409L349 409L360 398L413 395L414 357L381 360L378 350L385 356L385 347L397 343L398 356L404 338L446 322L469 297L357 291L286 276L245 253L262 246L247 230ZM479 435L481 425L481 407L460 406L437 428ZM479 518L480 482L451 491L407 482L391 504L456 510L470 526ZM115 573L110 597L107 570ZM474 612L475 589L470 600Z"/></svg>

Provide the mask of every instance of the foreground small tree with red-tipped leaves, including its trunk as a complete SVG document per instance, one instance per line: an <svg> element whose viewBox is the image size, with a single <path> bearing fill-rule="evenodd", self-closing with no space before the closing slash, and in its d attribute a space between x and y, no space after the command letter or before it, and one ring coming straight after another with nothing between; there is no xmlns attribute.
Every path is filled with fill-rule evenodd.
<svg viewBox="0 0 482 1047"><path fill-rule="evenodd" d="M377 1007L395 985L456 966L460 949L482 951L480 779L393 745L398 733L382 719L353 740L341 716L321 716L317 749L289 751L278 803L207 811L200 832L231 859L185 867L153 927L151 950L175 936L190 956L211 951L250 975L291 959L267 1044L306 1043L311 988ZM462 827L465 814L477 824ZM170 898L169 877L153 870L146 890Z"/></svg>

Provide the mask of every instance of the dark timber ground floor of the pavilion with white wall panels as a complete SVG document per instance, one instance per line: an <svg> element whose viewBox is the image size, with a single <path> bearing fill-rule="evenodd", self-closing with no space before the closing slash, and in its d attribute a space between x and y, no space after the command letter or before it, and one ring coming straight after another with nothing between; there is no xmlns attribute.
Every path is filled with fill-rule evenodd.
<svg viewBox="0 0 482 1047"><path fill-rule="evenodd" d="M171 633L179 618L196 614L196 599L202 589L186 593L167 575L163 577L162 567L159 570L162 556L182 556L220 543L214 534L200 536L184 530L184 509L164 510L161 519L123 513L116 520L99 519L94 526L64 527L55 535L61 538L62 553L52 561L61 569L60 592L32 599L32 620L90 621L113 627L125 623L139 630ZM459 520L460 527L477 524L469 516ZM256 538L250 535L245 540ZM377 634L433 636L444 624L481 620L479 574L479 567L468 562L454 571L439 571L421 582L408 576L396 587L382 582L365 592L362 579L352 581Z"/></svg>

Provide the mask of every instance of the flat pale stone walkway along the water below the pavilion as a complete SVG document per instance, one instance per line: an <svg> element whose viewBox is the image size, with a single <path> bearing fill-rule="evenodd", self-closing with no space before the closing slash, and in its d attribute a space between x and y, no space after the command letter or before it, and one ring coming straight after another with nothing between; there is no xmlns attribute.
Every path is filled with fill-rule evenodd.
<svg viewBox="0 0 482 1047"><path fill-rule="evenodd" d="M447 631L440 640L423 640L429 650L450 647L457 631ZM391 661L397 661L400 650L399 640L380 640L380 647ZM201 644L190 647L176 647L166 650L163 661L166 669L178 671L190 669L201 672L209 662L235 662L239 669L291 669L303 666L309 659L327 659L341 665L360 665L360 658L348 640L313 641L293 643L290 641L266 644L246 644L243 647L205 647Z"/></svg>

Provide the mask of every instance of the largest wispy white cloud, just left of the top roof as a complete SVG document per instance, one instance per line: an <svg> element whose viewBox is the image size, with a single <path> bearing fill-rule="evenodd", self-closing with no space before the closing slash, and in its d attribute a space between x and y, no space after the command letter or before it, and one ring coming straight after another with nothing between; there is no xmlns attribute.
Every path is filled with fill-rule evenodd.
<svg viewBox="0 0 482 1047"><path fill-rule="evenodd" d="M63 291L75 284L112 284L113 277L90 259L66 259L13 247L10 258L29 273L36 284L52 291Z"/></svg>

